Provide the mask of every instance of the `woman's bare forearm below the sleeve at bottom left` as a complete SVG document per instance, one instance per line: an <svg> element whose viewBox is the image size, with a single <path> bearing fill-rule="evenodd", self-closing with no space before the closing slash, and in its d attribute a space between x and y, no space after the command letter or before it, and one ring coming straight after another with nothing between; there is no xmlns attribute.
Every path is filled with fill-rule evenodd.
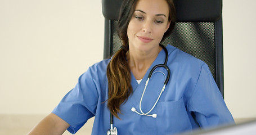
<svg viewBox="0 0 256 135"><path fill-rule="evenodd" d="M35 134L62 134L70 125L59 116L51 113L39 122L28 135Z"/></svg>

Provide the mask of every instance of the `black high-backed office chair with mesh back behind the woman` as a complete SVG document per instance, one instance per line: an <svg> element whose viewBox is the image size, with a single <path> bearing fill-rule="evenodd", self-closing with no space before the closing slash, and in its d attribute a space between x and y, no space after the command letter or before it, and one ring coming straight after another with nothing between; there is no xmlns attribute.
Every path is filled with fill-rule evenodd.
<svg viewBox="0 0 256 135"><path fill-rule="evenodd" d="M116 32L123 0L102 0L105 17L104 59L120 49ZM224 97L222 0L174 0L177 22L172 34L163 41L203 60Z"/></svg>

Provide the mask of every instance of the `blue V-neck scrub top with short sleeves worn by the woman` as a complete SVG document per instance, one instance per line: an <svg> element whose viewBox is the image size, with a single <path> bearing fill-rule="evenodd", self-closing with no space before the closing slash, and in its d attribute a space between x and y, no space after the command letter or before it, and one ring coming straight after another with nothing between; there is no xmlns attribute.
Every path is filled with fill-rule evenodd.
<svg viewBox="0 0 256 135"><path fill-rule="evenodd" d="M163 64L165 52L162 50L140 84L132 74L133 93L120 109L121 119L114 117L118 134L175 134L192 129L217 127L233 124L233 118L210 73L208 66L201 60L168 45L170 79L158 104L150 114L157 118L138 115L131 111L140 110L140 99L150 70ZM107 109L108 86L106 69L110 59L102 60L89 67L82 74L77 85L68 92L60 104L52 111L70 124L68 131L77 132L89 118L95 116L92 134L106 134L110 129L110 111ZM148 112L155 104L163 87L167 71L158 68L149 81L141 108ZM164 74L158 72L161 71ZM140 112L140 111L139 111ZM195 119L196 120L195 120Z"/></svg>

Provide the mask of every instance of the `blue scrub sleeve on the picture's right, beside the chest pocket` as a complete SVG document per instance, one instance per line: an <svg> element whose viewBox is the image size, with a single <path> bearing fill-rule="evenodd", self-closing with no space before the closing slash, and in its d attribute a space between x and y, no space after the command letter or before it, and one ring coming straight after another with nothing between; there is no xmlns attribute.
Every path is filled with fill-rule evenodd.
<svg viewBox="0 0 256 135"><path fill-rule="evenodd" d="M201 66L197 83L188 102L201 128L233 124L233 118L206 64Z"/></svg>

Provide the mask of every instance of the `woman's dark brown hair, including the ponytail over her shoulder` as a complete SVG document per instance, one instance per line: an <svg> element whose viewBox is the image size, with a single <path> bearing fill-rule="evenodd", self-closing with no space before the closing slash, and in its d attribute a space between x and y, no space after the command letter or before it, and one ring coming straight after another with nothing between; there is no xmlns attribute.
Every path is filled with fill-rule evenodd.
<svg viewBox="0 0 256 135"><path fill-rule="evenodd" d="M174 29L176 21L176 9L172 0L166 0L169 6L169 18L172 20L169 29L164 33L161 42L170 35ZM109 99L107 107L110 112L119 118L118 113L121 113L120 105L128 100L128 97L133 92L131 86L131 70L126 59L126 53L129 50L127 28L133 16L136 3L138 0L124 0L120 8L118 19L118 35L122 40L123 47L115 53L107 65L107 79L109 84Z"/></svg>

